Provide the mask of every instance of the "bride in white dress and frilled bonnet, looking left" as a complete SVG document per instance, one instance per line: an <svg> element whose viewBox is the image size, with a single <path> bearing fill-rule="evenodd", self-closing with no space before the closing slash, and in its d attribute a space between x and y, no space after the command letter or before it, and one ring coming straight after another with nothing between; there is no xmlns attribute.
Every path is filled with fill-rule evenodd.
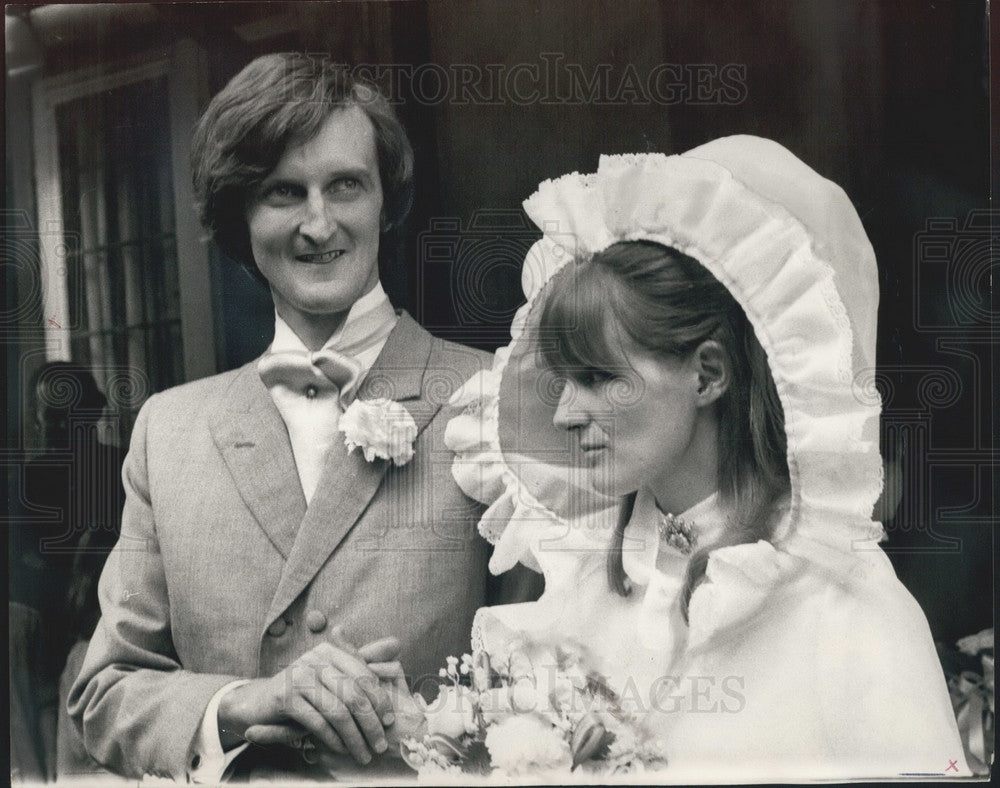
<svg viewBox="0 0 1000 788"><path fill-rule="evenodd" d="M572 639L670 781L969 774L923 612L878 546L874 254L774 142L602 157L544 237L455 476L492 571L545 575L474 644Z"/></svg>

